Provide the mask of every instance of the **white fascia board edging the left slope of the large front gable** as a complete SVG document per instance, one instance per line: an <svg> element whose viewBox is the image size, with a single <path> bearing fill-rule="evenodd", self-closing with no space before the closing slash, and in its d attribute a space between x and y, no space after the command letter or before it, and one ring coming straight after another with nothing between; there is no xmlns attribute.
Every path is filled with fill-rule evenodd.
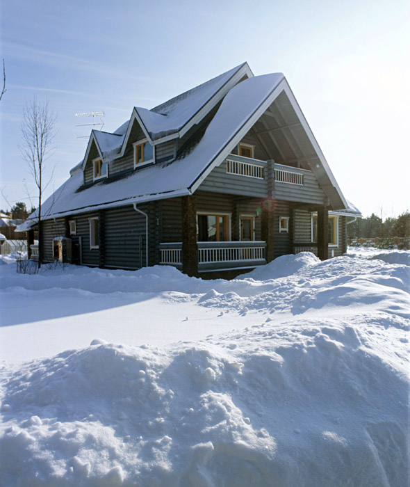
<svg viewBox="0 0 410 487"><path fill-rule="evenodd" d="M253 115L245 122L245 124L232 136L232 138L227 142L227 144L224 146L224 148L220 151L219 154L213 159L213 162L204 170L204 172L192 183L190 186L190 191L194 193L197 191L198 187L204 179L208 176L209 173L211 173L211 170L213 168L217 167L220 165L220 163L227 158L227 156L231 153L231 150L233 147L238 145L238 143L241 141L241 139L247 134L249 129L253 127L253 125L261 118L263 115L263 112L268 109L268 106L270 106L274 100L278 97L279 93L284 90L286 86L286 79L283 78L281 79L280 83L277 85L276 88L266 97L265 101L261 103L258 109L254 111Z"/></svg>

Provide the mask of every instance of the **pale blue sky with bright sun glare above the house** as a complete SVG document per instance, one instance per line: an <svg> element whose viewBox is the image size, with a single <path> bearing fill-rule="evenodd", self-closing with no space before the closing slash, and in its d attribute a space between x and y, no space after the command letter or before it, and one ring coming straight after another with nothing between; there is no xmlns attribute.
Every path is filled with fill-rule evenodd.
<svg viewBox="0 0 410 487"><path fill-rule="evenodd" d="M49 194L84 155L90 119L104 130L247 61L283 72L346 198L410 210L410 3L341 1L1 0L0 207L35 188L19 153L24 104L58 115ZM98 128L98 127L97 127ZM7 201L3 197L6 197Z"/></svg>

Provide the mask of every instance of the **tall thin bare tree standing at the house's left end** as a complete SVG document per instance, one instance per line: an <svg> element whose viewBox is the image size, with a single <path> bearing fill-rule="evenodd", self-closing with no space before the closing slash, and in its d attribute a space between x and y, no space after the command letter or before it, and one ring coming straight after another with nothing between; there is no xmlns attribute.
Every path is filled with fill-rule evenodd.
<svg viewBox="0 0 410 487"><path fill-rule="evenodd" d="M22 145L19 147L24 161L26 161L28 170L33 176L35 185L38 188L38 266L42 261L42 194L47 188L52 178L47 175L44 181L44 170L46 161L51 156L51 143L56 134L54 125L57 117L49 111L49 103L40 104L34 97L33 100L26 104L23 109L23 118L21 125Z"/></svg>

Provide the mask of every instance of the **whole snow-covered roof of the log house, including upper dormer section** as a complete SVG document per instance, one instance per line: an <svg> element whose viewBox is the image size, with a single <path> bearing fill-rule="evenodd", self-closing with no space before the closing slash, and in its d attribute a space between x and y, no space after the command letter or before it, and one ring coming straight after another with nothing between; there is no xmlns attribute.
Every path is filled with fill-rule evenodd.
<svg viewBox="0 0 410 487"><path fill-rule="evenodd" d="M249 67L245 63L165 104L156 106L151 111L134 109L131 119L119 127L115 134L93 130L84 161L72 169L72 177L43 203L44 218L192 194L211 170L227 157L232 147L259 120L279 93L285 90L289 98L293 97L283 74L253 77L251 72L245 81L238 83L238 79L235 86L230 87L224 94L217 113L199 143L190 152L180 155L177 159L141 167L127 175L103 179L87 187L83 185L81 167L87 160L93 141L101 157L118 157L121 146L126 143L126 138L129 136L134 115L140 118L152 137L163 136L169 130L179 131L184 124L187 127L188 122L195 118L210 99L215 97L215 93L218 93L222 87L226 89L228 81L233 77L240 76L240 79L243 79L248 70ZM215 102L215 99L213 101ZM209 106L206 110L208 109ZM303 115L300 115L300 118L303 118ZM304 122L306 124L306 120ZM307 124L306 127L305 130L308 132L310 129ZM311 138L314 141L313 134ZM334 207L349 208L325 158L320 150L317 152L329 186L334 190L336 198ZM35 223L37 223L37 212L29 217L26 224L17 227L17 231L25 231Z"/></svg>

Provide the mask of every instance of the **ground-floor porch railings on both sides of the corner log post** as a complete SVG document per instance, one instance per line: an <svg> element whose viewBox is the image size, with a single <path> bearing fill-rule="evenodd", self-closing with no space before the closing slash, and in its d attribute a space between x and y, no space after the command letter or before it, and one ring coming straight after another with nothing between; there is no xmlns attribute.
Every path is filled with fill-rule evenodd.
<svg viewBox="0 0 410 487"><path fill-rule="evenodd" d="M246 269L266 264L264 241L197 242L198 271ZM161 262L182 269L182 244L160 244Z"/></svg>

